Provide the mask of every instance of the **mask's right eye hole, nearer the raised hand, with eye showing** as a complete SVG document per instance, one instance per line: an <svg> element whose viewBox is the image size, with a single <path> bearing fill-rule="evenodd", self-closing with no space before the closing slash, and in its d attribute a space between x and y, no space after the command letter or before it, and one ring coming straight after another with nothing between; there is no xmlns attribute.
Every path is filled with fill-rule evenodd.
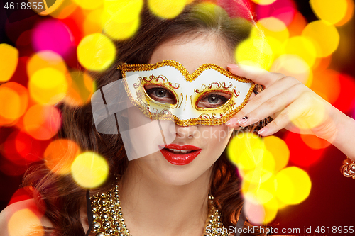
<svg viewBox="0 0 355 236"><path fill-rule="evenodd" d="M200 108L217 108L223 106L230 98L231 94L226 91L209 91L200 96L196 101L196 106Z"/></svg>

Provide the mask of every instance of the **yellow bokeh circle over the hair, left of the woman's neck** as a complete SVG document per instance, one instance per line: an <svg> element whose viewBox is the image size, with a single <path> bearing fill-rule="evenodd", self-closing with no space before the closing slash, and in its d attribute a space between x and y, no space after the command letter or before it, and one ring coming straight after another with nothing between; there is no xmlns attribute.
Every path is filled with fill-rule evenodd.
<svg viewBox="0 0 355 236"><path fill-rule="evenodd" d="M104 183L109 175L109 164L94 152L79 154L71 167L72 177L80 186L91 189Z"/></svg>

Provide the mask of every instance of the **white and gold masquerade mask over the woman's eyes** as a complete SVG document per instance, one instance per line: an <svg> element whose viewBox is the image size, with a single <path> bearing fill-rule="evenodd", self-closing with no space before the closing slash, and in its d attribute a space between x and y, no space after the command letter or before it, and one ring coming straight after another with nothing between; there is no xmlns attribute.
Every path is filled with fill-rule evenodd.
<svg viewBox="0 0 355 236"><path fill-rule="evenodd" d="M131 100L148 118L182 126L220 125L243 108L255 84L215 64L190 74L179 62L121 64Z"/></svg>

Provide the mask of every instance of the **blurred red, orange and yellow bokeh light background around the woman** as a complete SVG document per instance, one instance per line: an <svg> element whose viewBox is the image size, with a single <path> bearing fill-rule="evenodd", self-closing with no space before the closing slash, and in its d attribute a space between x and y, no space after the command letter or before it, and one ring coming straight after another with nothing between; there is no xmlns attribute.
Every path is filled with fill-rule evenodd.
<svg viewBox="0 0 355 236"><path fill-rule="evenodd" d="M134 35L143 0L58 2L51 11L13 23L0 9L0 210L29 198L18 186L33 164L72 174L83 187L98 186L107 176L107 163L98 154L55 139L61 126L55 105L89 102L96 87L85 69L101 72L114 62L119 52L113 42ZM190 2L150 0L148 6L159 17L174 18ZM257 22L236 48L241 64L293 76L355 116L353 0L239 2ZM229 0L214 3L238 6ZM354 225L354 180L340 174L345 157L339 150L315 136L285 130L264 139L239 136L228 154L243 178L254 223L301 232L310 226ZM251 153L236 151L247 150L246 145Z"/></svg>

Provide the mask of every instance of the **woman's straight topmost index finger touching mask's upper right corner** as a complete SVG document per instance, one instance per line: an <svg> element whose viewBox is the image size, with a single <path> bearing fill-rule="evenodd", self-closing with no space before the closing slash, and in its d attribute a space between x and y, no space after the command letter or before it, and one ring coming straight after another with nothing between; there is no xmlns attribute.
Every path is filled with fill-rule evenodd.
<svg viewBox="0 0 355 236"><path fill-rule="evenodd" d="M275 83L278 79L285 77L283 74L268 72L265 69L241 64L229 64L227 67L229 72L240 77L251 79L256 84L262 84L266 87L271 86L271 84Z"/></svg>

